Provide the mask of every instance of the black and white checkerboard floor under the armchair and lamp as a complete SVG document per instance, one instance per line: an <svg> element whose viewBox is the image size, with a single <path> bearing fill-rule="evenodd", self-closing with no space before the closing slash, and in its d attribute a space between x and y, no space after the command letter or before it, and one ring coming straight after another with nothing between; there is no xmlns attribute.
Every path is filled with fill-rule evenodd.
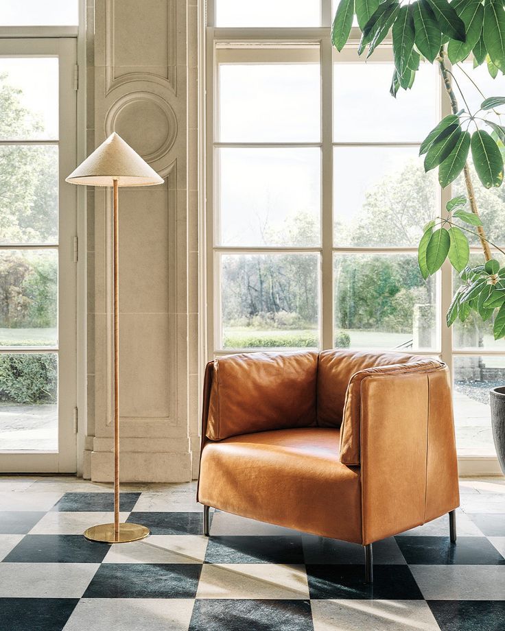
<svg viewBox="0 0 505 631"><path fill-rule="evenodd" d="M504 631L505 479L460 484L447 516L361 546L211 513L191 484L124 486L121 519L151 536L82 532L113 521L107 485L0 477L1 631Z"/></svg>

